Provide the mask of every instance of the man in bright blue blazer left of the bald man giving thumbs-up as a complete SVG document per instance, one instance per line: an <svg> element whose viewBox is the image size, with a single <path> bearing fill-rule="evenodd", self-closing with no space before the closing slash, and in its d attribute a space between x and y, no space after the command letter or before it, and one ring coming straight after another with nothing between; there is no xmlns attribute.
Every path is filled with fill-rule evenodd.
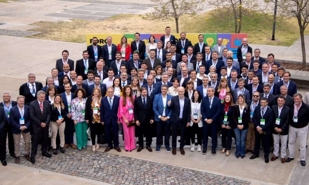
<svg viewBox="0 0 309 185"><path fill-rule="evenodd" d="M156 152L160 152L161 145L163 144L164 134L164 145L167 152L170 152L170 117L172 109L167 105L167 102L172 98L171 95L167 94L168 86L163 84L161 86L161 93L157 94L153 101L153 111L155 114L155 122L157 125L157 146Z"/></svg>

